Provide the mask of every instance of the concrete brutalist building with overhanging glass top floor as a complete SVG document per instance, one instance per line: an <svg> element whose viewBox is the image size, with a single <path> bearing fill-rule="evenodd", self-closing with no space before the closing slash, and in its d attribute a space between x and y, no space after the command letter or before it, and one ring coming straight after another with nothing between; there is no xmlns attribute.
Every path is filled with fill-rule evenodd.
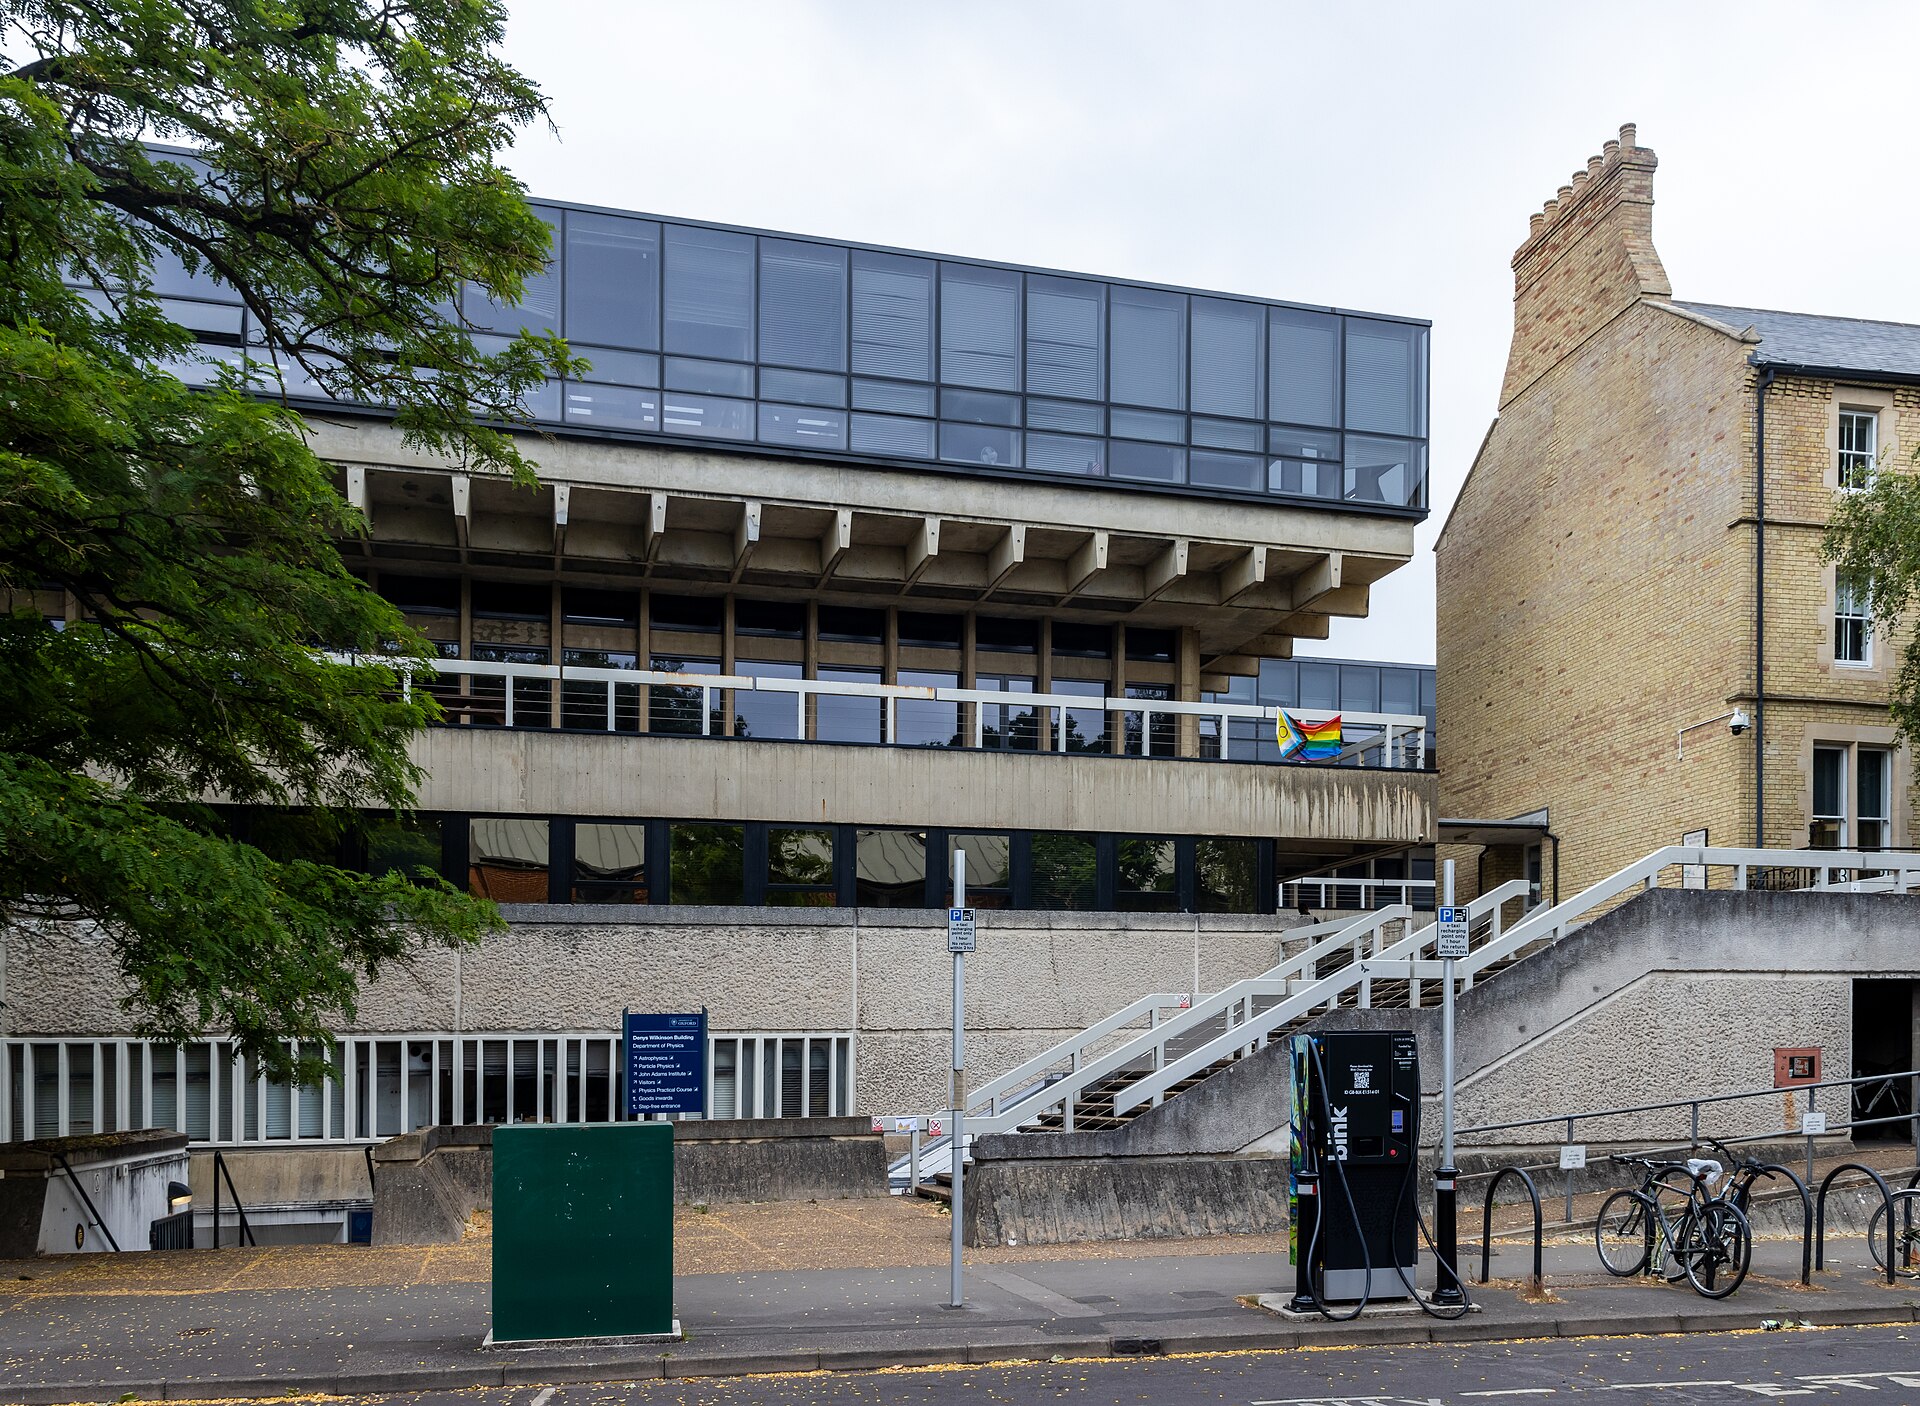
<svg viewBox="0 0 1920 1406"><path fill-rule="evenodd" d="M367 519L342 551L442 655L420 814L344 859L438 866L511 932L369 989L323 1089L134 1041L83 937L15 939L0 1135L357 1162L426 1124L609 1118L628 1006L708 1012L708 1116L925 1112L954 849L993 1072L1263 970L1283 884L1432 843L1419 670L1344 709L1329 764L1279 763L1248 686L1413 553L1425 323L540 209L549 271L465 307L482 344L557 330L593 363L530 405L538 490L290 386ZM236 355L242 309L173 284Z"/></svg>

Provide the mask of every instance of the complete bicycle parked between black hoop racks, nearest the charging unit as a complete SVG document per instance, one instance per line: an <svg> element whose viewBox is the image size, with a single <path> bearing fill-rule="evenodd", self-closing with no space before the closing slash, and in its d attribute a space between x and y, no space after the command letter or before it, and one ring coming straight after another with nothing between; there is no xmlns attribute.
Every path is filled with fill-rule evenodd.
<svg viewBox="0 0 1920 1406"><path fill-rule="evenodd" d="M1668 1281L1686 1275L1703 1298L1726 1298L1740 1289L1753 1264L1753 1229L1740 1206L1709 1195L1720 1179L1720 1166L1703 1162L1695 1170L1686 1162L1619 1152L1613 1160L1642 1168L1642 1179L1640 1187L1622 1187L1599 1206L1594 1248L1601 1268L1622 1279L1645 1270ZM1686 1177L1686 1183L1668 1181L1672 1176ZM1686 1208L1668 1216L1663 1193L1682 1197Z"/></svg>

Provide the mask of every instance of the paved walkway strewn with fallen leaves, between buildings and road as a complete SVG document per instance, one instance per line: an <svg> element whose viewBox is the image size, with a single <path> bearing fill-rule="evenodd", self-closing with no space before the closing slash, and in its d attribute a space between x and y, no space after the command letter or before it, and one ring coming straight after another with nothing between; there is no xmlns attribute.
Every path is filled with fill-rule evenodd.
<svg viewBox="0 0 1920 1406"><path fill-rule="evenodd" d="M1273 1237L981 1250L968 1306L948 1310L947 1218L912 1202L747 1206L682 1218L676 1308L687 1341L482 1350L484 1235L440 1248L286 1247L65 1256L0 1266L0 1402L355 1394L419 1387L620 1381L927 1362L1050 1360L1331 1343L1473 1341L1753 1329L1763 1320L1914 1321L1920 1293L1868 1272L1864 1245L1830 1247L1816 1287L1799 1245L1766 1241L1730 1300L1609 1279L1588 1245L1496 1250L1484 1312L1352 1325L1254 1306L1286 1293ZM891 1262L876 1264L887 1258ZM935 1252L937 1250L937 1252ZM730 1258L732 1256L732 1258ZM739 1264L751 1258L751 1266ZM689 1268L691 1266L691 1268ZM19 1277L29 1275L29 1277Z"/></svg>

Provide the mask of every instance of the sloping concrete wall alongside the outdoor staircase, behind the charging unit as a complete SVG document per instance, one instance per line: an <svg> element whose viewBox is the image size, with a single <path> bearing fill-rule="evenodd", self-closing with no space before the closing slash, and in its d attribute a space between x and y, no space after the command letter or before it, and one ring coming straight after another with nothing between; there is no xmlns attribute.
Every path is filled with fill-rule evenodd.
<svg viewBox="0 0 1920 1406"><path fill-rule="evenodd" d="M1455 1006L1461 1127L1711 1097L1772 1083L1774 1047L1853 1062L1853 982L1920 978L1920 897L1655 889L1534 953ZM1916 1001L1920 1006L1920 1001ZM1920 1026L1920 1008L1916 1008ZM1413 1030L1421 1141L1440 1137L1440 1012L1340 1010L1321 1030ZM1795 1095L1805 1108L1807 1095ZM1826 1095L1830 1118L1845 1099ZM972 1245L1071 1243L1286 1225L1286 1053L1269 1045L1116 1131L975 1145ZM1786 1095L1701 1112L1705 1135L1795 1124ZM1590 1145L1686 1141L1688 1110L1576 1124ZM1843 1133L1841 1133L1843 1139ZM1549 1158L1565 1124L1461 1139L1465 1168Z"/></svg>

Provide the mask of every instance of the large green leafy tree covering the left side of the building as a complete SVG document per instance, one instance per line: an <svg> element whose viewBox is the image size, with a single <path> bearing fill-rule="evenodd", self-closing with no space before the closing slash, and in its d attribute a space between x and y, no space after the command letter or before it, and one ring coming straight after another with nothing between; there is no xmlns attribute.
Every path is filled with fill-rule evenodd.
<svg viewBox="0 0 1920 1406"><path fill-rule="evenodd" d="M488 0L0 0L0 924L90 924L140 1033L284 1070L361 980L499 924L207 803L332 836L413 803L436 709L396 667L430 645L346 572L363 522L273 392L298 369L530 476L499 424L564 348L480 355L451 311L547 254L497 161L543 115L501 33ZM252 359L184 386L156 271L238 294Z"/></svg>

